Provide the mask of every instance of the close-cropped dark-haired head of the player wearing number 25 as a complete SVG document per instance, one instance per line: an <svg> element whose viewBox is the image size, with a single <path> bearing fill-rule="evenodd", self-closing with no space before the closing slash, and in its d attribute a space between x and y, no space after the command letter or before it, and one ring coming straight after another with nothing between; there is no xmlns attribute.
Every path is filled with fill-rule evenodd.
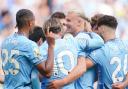
<svg viewBox="0 0 128 89"><path fill-rule="evenodd" d="M18 28L23 28L24 26L26 26L28 21L32 21L34 19L35 17L32 11L28 9L21 9L16 14L16 26Z"/></svg>

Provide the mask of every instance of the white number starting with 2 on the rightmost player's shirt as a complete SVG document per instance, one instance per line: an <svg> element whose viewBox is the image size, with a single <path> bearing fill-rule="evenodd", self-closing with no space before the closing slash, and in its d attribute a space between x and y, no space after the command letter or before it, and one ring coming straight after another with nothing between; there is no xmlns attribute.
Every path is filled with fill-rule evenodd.
<svg viewBox="0 0 128 89"><path fill-rule="evenodd" d="M123 67L124 74L127 73L128 55L125 55L124 65L121 65L121 59L119 57L113 57L110 61L110 64L116 64L116 63L118 64L118 66L112 74L113 83L123 81L124 77L123 76L117 77L117 74L120 72L121 67Z"/></svg>

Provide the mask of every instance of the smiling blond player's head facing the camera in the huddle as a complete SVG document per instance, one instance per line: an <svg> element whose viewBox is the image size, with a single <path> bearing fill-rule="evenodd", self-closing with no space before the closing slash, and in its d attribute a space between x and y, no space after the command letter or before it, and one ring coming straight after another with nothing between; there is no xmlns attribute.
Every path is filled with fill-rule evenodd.
<svg viewBox="0 0 128 89"><path fill-rule="evenodd" d="M68 31L75 35L80 31L84 31L85 19L88 20L83 12L71 10L66 16Z"/></svg>

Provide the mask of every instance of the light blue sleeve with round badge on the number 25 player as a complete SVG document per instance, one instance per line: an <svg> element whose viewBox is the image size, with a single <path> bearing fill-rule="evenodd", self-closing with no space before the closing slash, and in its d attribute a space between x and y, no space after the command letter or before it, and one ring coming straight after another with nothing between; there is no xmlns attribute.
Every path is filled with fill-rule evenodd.
<svg viewBox="0 0 128 89"><path fill-rule="evenodd" d="M34 65L38 65L43 61L39 47L36 43L31 42L30 44L27 44L24 49L26 50L26 57Z"/></svg>

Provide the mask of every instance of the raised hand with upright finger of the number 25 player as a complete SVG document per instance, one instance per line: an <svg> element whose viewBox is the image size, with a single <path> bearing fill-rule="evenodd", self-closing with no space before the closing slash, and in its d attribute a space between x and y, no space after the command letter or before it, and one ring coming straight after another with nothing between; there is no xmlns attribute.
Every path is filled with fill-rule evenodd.
<svg viewBox="0 0 128 89"><path fill-rule="evenodd" d="M55 45L55 35L52 32L49 32L49 27L46 32L46 40L50 47L54 47Z"/></svg>

